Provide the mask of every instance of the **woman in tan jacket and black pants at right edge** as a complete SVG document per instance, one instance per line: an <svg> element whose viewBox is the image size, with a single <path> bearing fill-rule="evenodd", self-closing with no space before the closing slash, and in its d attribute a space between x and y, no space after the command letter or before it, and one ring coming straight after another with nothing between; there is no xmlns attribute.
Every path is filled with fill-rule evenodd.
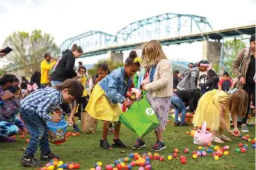
<svg viewBox="0 0 256 170"><path fill-rule="evenodd" d="M250 112L250 96L253 95L253 105L255 106L255 34L250 37L250 47L242 49L237 54L237 58L232 65L232 71L239 81L236 87L245 90L248 93L248 110L246 117L242 120L242 132L249 132L246 126L248 114Z"/></svg>

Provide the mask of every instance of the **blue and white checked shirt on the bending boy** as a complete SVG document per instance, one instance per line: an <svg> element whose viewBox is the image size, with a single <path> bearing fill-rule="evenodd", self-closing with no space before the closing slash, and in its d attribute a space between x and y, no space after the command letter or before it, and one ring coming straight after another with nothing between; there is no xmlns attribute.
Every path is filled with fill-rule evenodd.
<svg viewBox="0 0 256 170"><path fill-rule="evenodd" d="M62 103L61 90L56 90L54 87L46 87L26 96L20 102L20 105L25 110L36 112L45 121L50 121L49 113L56 110Z"/></svg>

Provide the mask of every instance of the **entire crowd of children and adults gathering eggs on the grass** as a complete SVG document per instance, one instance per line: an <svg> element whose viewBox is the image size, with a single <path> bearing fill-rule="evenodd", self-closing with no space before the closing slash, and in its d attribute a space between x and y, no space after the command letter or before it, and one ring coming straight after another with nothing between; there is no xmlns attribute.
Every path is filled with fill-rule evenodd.
<svg viewBox="0 0 256 170"><path fill-rule="evenodd" d="M157 40L145 44L141 57L131 51L123 67L109 70L105 63L99 64L97 74L90 79L83 63L79 62L78 70L74 70L75 60L82 53L77 44L63 51L57 60L46 53L40 71L35 71L30 81L24 77L20 81L13 74L0 78L0 142L14 142L10 136L19 130L31 134L22 166L40 167L35 158L38 146L40 160L58 158L49 146L47 121L61 121L65 114L74 130L79 130L77 125L81 122L84 133L94 133L97 120L102 120L102 148L127 147L120 139L118 121L120 114L133 104L127 92L136 92L139 98L140 92L147 91L147 101L157 114L160 124L154 129L156 142L152 151L166 148L163 132L171 108L175 110L174 126L189 126L185 121L187 110L194 115L194 126L206 121L212 129L212 142L230 141L223 135L224 130L240 135L239 119L241 132L249 131L248 114L255 109L255 34L250 37L250 47L242 49L233 62L233 79L227 72L216 74L207 60L190 63L184 73L177 70L173 74ZM78 122L74 119L76 114ZM230 129L231 122L234 129ZM113 133L112 144L107 140L109 133ZM133 149L146 146L144 139L134 140Z"/></svg>

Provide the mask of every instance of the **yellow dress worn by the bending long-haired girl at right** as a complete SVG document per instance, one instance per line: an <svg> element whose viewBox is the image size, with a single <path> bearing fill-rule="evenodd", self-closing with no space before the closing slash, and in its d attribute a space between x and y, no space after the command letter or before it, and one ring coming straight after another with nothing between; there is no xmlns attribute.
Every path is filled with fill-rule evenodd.
<svg viewBox="0 0 256 170"><path fill-rule="evenodd" d="M227 93L223 91L211 90L205 93L198 102L198 108L195 110L195 116L193 117L194 126L202 126L202 122L206 121L207 127L212 130L224 129L225 127L221 124L221 106L225 109L225 122L227 126L230 126L227 100Z"/></svg>

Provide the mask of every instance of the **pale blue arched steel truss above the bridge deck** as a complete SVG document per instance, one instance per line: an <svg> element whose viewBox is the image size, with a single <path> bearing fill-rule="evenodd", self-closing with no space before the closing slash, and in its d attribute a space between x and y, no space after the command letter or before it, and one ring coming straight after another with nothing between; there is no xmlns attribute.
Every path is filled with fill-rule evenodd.
<svg viewBox="0 0 256 170"><path fill-rule="evenodd" d="M205 17L165 13L128 24L116 35L102 31L82 33L65 40L60 49L61 51L71 49L72 44L78 44L84 51L83 56L86 57L106 53L104 49L113 46L125 46L118 50L128 50L134 46L127 47L127 44L141 44L148 40L182 37L206 31L212 31L212 28ZM93 53L93 51L99 51L99 53Z"/></svg>

